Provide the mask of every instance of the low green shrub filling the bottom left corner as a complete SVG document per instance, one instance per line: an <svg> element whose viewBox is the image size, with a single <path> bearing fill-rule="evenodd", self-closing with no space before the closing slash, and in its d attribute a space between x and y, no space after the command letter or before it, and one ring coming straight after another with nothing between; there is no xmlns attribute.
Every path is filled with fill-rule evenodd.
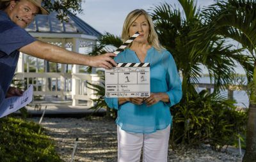
<svg viewBox="0 0 256 162"><path fill-rule="evenodd" d="M37 133L40 125L12 117L0 119L1 162L61 161L49 137Z"/></svg>

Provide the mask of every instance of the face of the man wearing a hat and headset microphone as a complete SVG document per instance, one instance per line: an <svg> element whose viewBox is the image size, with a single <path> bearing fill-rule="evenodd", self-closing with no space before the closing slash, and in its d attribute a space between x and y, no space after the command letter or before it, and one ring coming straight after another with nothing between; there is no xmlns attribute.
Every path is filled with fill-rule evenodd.
<svg viewBox="0 0 256 162"><path fill-rule="evenodd" d="M30 1L20 0L11 1L8 10L10 10L9 17L11 20L18 26L25 28L34 20L39 8Z"/></svg>

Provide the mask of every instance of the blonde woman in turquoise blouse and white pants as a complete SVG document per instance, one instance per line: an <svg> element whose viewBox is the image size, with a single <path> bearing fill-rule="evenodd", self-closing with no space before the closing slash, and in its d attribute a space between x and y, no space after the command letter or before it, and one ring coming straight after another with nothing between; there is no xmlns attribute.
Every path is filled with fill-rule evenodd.
<svg viewBox="0 0 256 162"><path fill-rule="evenodd" d="M150 63L150 97L105 98L118 110L118 161L167 161L172 115L170 107L182 97L181 83L172 55L159 45L152 18L134 10L125 19L122 40L138 36L115 57L116 63Z"/></svg>

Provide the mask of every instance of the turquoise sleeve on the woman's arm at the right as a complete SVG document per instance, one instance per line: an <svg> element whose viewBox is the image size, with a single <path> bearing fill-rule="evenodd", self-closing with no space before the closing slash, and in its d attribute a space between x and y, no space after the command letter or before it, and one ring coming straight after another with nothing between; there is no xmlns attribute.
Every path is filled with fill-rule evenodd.
<svg viewBox="0 0 256 162"><path fill-rule="evenodd" d="M167 65L167 73L166 73L166 80L167 80L167 86L168 86L168 91L166 92L169 96L170 102L166 103L168 107L172 107L173 105L179 103L180 99L182 98L182 85L180 82L180 76L177 71L177 66L175 64L175 61L172 57L172 54L170 52L167 52L167 55L164 58L168 60L168 65Z"/></svg>

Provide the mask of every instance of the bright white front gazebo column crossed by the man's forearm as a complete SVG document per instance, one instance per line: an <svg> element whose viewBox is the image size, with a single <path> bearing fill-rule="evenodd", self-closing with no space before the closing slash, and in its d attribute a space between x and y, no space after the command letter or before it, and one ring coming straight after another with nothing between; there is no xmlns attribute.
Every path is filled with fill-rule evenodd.
<svg viewBox="0 0 256 162"><path fill-rule="evenodd" d="M79 39L73 39L73 52L79 52ZM78 105L78 99L75 99L75 96L79 94L79 80L74 78L74 74L79 73L79 65L74 64L72 66L72 106Z"/></svg>

